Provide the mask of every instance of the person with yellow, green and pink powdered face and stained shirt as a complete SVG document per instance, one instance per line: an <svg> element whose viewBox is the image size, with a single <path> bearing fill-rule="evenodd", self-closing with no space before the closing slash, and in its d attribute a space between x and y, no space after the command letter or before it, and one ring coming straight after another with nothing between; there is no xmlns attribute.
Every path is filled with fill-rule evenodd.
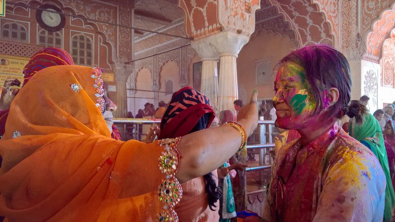
<svg viewBox="0 0 395 222"><path fill-rule="evenodd" d="M244 221L383 221L380 162L336 123L351 97L344 55L321 44L292 51L280 61L275 91L276 125L301 138L276 155L263 218Z"/></svg>

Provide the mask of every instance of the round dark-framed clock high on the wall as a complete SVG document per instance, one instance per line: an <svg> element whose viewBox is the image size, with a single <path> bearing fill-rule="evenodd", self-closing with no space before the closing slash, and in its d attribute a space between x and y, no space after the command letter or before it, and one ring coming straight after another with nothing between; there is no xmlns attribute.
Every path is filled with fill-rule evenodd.
<svg viewBox="0 0 395 222"><path fill-rule="evenodd" d="M42 9L49 11L44 11ZM39 9L37 9L36 20L46 31L56 32L63 29L66 23L65 15L59 13L63 13L60 8L54 5L44 4L41 5Z"/></svg>

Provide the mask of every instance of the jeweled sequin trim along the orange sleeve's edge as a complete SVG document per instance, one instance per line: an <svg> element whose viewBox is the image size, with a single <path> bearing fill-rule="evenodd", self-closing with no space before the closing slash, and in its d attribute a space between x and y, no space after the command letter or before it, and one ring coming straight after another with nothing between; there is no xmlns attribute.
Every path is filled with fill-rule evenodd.
<svg viewBox="0 0 395 222"><path fill-rule="evenodd" d="M177 150L180 138L163 139L158 141L158 145L164 148L158 158L160 172L165 175L158 187L158 199L163 210L158 214L158 222L178 222L178 216L174 211L174 206L180 202L182 188L175 177L180 163L180 154Z"/></svg>

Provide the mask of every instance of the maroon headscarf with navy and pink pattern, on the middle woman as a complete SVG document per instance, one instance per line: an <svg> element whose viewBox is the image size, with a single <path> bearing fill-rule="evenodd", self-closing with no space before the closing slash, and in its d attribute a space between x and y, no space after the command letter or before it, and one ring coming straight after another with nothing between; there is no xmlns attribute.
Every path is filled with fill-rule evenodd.
<svg viewBox="0 0 395 222"><path fill-rule="evenodd" d="M210 100L192 87L185 87L174 93L160 122L159 139L187 135L199 119L209 113L206 128L215 118Z"/></svg>

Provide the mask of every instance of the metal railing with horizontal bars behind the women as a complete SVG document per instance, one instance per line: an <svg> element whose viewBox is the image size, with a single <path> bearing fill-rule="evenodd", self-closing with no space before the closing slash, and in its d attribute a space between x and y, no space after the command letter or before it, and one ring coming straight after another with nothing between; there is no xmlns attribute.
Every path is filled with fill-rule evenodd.
<svg viewBox="0 0 395 222"><path fill-rule="evenodd" d="M122 135L122 140L126 139L127 135L130 135L130 139L140 140L141 136L144 135L145 132L141 132L141 128L143 124L160 124L160 119L136 119L136 118L115 118L114 124L123 125L123 127L119 127L120 133ZM264 174L262 170L270 169L273 163L273 158L270 154L270 151L275 148L275 144L273 143L273 125L275 121L272 120L264 120L261 117L258 120L258 128L259 128L259 142L258 144L249 144L247 145L247 150L252 152L253 150L259 149L259 165L247 167L246 171L254 171L259 170L259 181L264 181ZM268 128L268 129L266 129ZM131 129L131 132L127 132L128 129ZM268 133L266 132L268 130ZM122 132L123 131L123 132ZM142 134L141 134L142 133Z"/></svg>

